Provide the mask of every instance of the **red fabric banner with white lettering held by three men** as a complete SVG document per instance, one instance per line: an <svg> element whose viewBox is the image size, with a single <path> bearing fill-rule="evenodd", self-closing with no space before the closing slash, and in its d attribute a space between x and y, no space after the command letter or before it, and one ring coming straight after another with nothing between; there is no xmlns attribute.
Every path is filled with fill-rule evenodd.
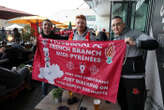
<svg viewBox="0 0 164 110"><path fill-rule="evenodd" d="M32 77L115 103L126 45L38 38Z"/></svg>

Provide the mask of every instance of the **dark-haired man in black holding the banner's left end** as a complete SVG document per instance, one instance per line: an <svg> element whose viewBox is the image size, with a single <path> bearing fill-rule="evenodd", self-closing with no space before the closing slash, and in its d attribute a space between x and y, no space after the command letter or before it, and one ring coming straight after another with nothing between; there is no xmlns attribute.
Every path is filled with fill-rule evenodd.
<svg viewBox="0 0 164 110"><path fill-rule="evenodd" d="M42 22L42 31L41 37L43 38L51 38L55 40L64 39L61 36L54 34L52 30L52 22L49 19L46 19ZM42 82L42 94L43 96L47 95L48 93L48 84Z"/></svg>

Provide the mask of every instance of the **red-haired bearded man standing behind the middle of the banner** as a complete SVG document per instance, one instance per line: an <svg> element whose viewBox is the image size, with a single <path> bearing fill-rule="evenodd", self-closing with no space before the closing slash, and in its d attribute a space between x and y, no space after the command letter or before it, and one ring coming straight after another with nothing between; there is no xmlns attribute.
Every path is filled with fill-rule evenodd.
<svg viewBox="0 0 164 110"><path fill-rule="evenodd" d="M86 17L78 15L75 19L76 29L70 34L69 40L95 40L95 36L87 27Z"/></svg>

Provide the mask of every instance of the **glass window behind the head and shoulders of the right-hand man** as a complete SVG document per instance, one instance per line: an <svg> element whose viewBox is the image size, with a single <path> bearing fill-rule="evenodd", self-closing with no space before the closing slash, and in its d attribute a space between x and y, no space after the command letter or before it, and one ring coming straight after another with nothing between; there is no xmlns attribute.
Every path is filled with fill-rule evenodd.
<svg viewBox="0 0 164 110"><path fill-rule="evenodd" d="M112 17L121 16L126 25L131 29L145 31L147 9L147 2L144 2L137 11L135 1L114 2L112 5Z"/></svg>

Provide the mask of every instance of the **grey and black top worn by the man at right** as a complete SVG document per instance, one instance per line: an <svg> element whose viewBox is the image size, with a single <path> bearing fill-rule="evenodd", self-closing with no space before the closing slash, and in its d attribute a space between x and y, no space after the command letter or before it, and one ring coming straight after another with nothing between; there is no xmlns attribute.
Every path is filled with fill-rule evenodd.
<svg viewBox="0 0 164 110"><path fill-rule="evenodd" d="M142 78L145 73L145 50L154 50L158 47L158 42L150 36L129 28L125 28L119 36L114 36L114 40L123 40L126 37L132 38L135 46L127 44L125 62L122 68L122 77Z"/></svg>

